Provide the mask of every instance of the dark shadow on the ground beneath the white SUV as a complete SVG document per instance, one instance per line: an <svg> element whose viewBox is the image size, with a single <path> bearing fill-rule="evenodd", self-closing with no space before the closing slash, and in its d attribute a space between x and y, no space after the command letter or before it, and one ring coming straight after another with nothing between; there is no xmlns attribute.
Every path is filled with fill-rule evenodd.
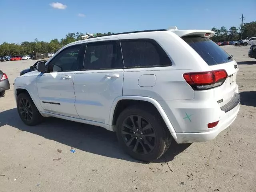
<svg viewBox="0 0 256 192"><path fill-rule="evenodd" d="M118 144L115 132L101 127L58 118L46 118L40 125L26 126L20 120L16 108L0 112L0 117L0 127L9 125L93 154L144 163L134 160L124 153ZM171 161L189 146L190 144L176 144L176 142L173 142L166 154L154 162Z"/></svg>

